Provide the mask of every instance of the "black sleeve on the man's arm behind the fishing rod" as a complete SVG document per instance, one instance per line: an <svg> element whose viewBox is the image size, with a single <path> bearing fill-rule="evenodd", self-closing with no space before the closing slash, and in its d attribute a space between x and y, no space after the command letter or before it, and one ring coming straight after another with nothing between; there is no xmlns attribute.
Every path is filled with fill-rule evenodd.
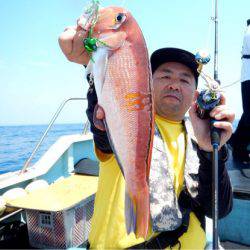
<svg viewBox="0 0 250 250"><path fill-rule="evenodd" d="M208 217L212 217L212 153L197 149L200 159L198 196L194 199L195 205ZM230 179L225 167L227 160L227 147L219 151L219 191L218 205L219 218L225 217L232 210L233 194Z"/></svg>

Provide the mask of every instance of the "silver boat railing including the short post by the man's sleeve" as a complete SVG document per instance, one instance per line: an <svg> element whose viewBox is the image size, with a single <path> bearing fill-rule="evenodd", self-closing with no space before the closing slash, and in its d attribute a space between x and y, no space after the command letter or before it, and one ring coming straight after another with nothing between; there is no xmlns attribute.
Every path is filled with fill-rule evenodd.
<svg viewBox="0 0 250 250"><path fill-rule="evenodd" d="M57 111L55 112L55 114L53 115L47 129L45 130L45 132L43 133L41 139L39 140L39 142L37 143L36 147L34 148L34 150L32 151L30 157L28 158L28 160L25 162L22 170L20 171L20 174L24 173L27 169L27 167L30 165L30 162L32 161L32 159L34 158L37 150L39 149L39 147L41 146L42 142L44 141L46 135L48 134L48 132L50 131L52 125L54 124L54 122L56 121L57 117L59 116L59 114L61 113L61 111L63 110L64 106L66 105L66 103L68 103L69 101L85 101L86 98L82 98L82 97L73 97L73 98L68 98L66 100L64 100L61 105L59 106L59 108L57 109ZM85 126L83 128L83 134L86 134L87 131L89 129L89 123L86 122Z"/></svg>

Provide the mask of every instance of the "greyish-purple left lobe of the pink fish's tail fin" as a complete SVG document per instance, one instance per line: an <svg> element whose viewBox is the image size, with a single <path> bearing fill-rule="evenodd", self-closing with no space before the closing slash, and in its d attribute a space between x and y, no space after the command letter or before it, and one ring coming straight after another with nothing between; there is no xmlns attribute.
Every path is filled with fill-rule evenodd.
<svg viewBox="0 0 250 250"><path fill-rule="evenodd" d="M125 192L125 221L126 221L126 229L127 234L135 232L136 228L136 215L135 215L135 207L134 204L128 194L128 191Z"/></svg>

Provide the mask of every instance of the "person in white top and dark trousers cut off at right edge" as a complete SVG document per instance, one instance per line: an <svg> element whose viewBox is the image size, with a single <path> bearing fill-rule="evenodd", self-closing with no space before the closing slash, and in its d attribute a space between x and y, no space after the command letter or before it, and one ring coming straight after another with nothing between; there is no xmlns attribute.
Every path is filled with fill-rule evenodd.
<svg viewBox="0 0 250 250"><path fill-rule="evenodd" d="M241 67L241 95L243 114L230 139L233 156L244 164L250 164L250 19L243 39Z"/></svg>

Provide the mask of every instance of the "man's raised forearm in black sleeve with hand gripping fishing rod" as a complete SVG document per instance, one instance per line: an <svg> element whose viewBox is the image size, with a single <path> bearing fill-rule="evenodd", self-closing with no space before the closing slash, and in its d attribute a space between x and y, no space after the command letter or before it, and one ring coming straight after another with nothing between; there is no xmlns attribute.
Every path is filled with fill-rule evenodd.
<svg viewBox="0 0 250 250"><path fill-rule="evenodd" d="M191 201L192 206L197 208L208 217L212 216L212 145L210 139L210 124L209 120L202 120L197 116L196 99L198 97L196 92L194 102L189 111L192 122L194 135L197 139L197 155L200 161L199 167L199 186L198 196ZM211 112L210 117L216 119L214 126L221 130L221 141L219 146L219 217L226 216L232 209L232 188L230 179L225 167L227 160L227 148L225 146L227 140L232 135L232 122L234 120L234 113L226 105L224 95L221 95L221 103L216 106Z"/></svg>

